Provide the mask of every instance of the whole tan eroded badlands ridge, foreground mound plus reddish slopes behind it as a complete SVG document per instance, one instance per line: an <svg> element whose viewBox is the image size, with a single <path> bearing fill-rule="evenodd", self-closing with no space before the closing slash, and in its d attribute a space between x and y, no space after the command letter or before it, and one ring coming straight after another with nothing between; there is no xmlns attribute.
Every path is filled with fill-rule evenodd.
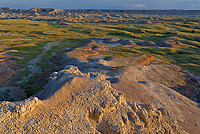
<svg viewBox="0 0 200 134"><path fill-rule="evenodd" d="M58 66L37 95L1 102L0 133L198 134L198 103L173 90L186 85L180 67L151 55L105 58L105 39L96 40L52 58Z"/></svg>

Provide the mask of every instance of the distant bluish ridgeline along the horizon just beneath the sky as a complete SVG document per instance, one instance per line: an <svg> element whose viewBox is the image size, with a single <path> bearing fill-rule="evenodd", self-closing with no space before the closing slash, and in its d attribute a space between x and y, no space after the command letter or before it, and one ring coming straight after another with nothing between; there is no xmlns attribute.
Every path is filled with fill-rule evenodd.
<svg viewBox="0 0 200 134"><path fill-rule="evenodd" d="M128 13L128 14L147 14L147 15L200 15L200 10L109 10L109 9L67 9L60 10L55 8L31 8L29 10L12 9L0 7L0 13L16 13L29 15L69 15L69 13Z"/></svg>

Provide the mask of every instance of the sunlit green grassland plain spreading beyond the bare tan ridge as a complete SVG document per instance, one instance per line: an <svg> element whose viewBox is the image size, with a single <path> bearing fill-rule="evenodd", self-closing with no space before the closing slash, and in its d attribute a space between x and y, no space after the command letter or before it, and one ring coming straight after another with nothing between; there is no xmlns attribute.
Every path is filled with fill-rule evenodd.
<svg viewBox="0 0 200 134"><path fill-rule="evenodd" d="M163 18L166 19L168 17L164 16ZM171 17L175 18L175 16ZM119 18L117 23L111 23L114 20L110 20L110 23L87 23L86 20L77 19L78 22L82 23L69 23L68 25L16 19L0 20L0 34L5 34L0 36L0 46L3 46L0 47L0 53L6 52L16 56L16 58L13 58L13 61L17 64L13 66L13 69L20 70L25 68L31 59L42 54L47 43L60 41L59 45L48 50L42 56L41 61L37 63L42 69L42 72L44 72L51 68L46 64L46 61L52 57L52 53L56 52L58 54L69 51L63 48L70 48L71 50L79 47L81 44L76 44L75 42L85 40L85 38L114 37L130 39L135 42L158 42L174 39L181 41L182 45L177 48L117 46L110 47L109 51L102 51L101 53L114 54L117 57L151 54L162 60L160 64L176 64L184 70L188 70L195 75L200 75L200 23L166 20L157 21L153 18L156 18L156 16L148 18L142 15L135 15L134 18ZM148 19L151 19L155 23L141 23ZM95 22L97 20L88 21ZM125 23L126 21L129 23ZM15 36L12 34L15 34ZM11 50L17 50L18 52L12 52ZM19 57L23 57L23 60ZM20 73L27 75L30 72L29 70L21 70ZM30 89L27 91L29 95L36 93L36 91L31 92L31 90L38 88L37 85L34 86L34 82L40 76L41 73L36 74L34 78L25 84L25 87L22 87Z"/></svg>

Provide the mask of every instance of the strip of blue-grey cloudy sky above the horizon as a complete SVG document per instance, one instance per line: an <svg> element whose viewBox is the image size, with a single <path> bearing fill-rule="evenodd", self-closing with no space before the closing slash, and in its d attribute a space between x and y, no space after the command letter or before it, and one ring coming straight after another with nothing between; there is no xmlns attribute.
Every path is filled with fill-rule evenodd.
<svg viewBox="0 0 200 134"><path fill-rule="evenodd" d="M0 7L14 9L200 10L200 0L0 0Z"/></svg>

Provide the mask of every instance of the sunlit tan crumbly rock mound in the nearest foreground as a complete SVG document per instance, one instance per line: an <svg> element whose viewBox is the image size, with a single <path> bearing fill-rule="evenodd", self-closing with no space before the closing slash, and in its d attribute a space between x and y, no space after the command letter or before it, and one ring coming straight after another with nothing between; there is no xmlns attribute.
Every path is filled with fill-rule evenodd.
<svg viewBox="0 0 200 134"><path fill-rule="evenodd" d="M0 122L2 133L187 133L167 109L128 102L104 75L75 66L52 73L36 97L1 102Z"/></svg>

